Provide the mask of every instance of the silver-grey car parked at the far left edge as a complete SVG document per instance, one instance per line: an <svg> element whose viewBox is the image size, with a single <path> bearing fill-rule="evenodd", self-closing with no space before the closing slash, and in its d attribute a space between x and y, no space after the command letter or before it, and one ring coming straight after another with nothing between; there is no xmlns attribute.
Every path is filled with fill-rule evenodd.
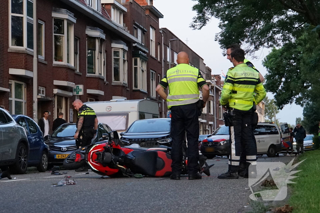
<svg viewBox="0 0 320 213"><path fill-rule="evenodd" d="M0 107L0 168L24 174L28 168L29 143L26 130Z"/></svg>

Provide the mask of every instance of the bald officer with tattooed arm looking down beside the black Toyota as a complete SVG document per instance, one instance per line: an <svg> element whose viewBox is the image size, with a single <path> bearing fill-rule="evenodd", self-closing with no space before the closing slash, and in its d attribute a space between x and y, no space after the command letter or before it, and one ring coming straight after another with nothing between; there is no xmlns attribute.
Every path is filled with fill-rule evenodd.
<svg viewBox="0 0 320 213"><path fill-rule="evenodd" d="M74 138L78 141L78 147L84 147L91 144L91 140L98 129L98 118L94 110L83 104L81 100L76 99L73 102L75 110L78 110L77 130ZM88 171L88 166L85 165L76 171Z"/></svg>

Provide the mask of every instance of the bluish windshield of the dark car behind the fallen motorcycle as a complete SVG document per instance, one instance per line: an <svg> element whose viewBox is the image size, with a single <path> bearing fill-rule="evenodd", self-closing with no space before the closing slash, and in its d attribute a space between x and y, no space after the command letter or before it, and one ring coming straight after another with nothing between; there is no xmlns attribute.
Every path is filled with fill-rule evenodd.
<svg viewBox="0 0 320 213"><path fill-rule="evenodd" d="M170 120L152 119L137 120L128 129L127 133L154 133L170 132Z"/></svg>

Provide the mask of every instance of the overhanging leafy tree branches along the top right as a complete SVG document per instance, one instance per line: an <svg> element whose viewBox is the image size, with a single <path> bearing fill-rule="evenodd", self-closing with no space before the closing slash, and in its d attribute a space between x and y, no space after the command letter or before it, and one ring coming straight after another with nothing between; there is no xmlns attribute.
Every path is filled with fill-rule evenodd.
<svg viewBox="0 0 320 213"><path fill-rule="evenodd" d="M320 38L320 2L316 0L193 0L196 16L190 27L201 29L212 17L220 20L216 34L221 49L247 44L247 53L282 46L300 37L303 26Z"/></svg>

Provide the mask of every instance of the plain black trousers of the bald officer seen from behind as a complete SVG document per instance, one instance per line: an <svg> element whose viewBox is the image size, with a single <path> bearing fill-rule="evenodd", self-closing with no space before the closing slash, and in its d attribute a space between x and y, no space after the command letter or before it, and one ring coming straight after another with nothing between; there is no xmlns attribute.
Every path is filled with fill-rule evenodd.
<svg viewBox="0 0 320 213"><path fill-rule="evenodd" d="M171 138L172 138L172 173L181 174L183 160L183 139L185 133L188 141L188 174L198 172L199 160L199 116L196 103L171 107Z"/></svg>

